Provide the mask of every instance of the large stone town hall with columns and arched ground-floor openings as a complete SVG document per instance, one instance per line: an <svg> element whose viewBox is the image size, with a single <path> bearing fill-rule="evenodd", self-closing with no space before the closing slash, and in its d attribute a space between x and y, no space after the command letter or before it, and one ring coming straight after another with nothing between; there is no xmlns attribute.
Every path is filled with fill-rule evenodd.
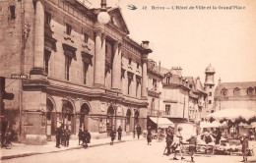
<svg viewBox="0 0 256 163"><path fill-rule="evenodd" d="M0 76L15 94L5 101L5 118L22 139L51 139L60 123L73 135L146 128L152 50L128 36L119 8L107 8L105 26L99 9L78 0L8 0L0 8Z"/></svg>

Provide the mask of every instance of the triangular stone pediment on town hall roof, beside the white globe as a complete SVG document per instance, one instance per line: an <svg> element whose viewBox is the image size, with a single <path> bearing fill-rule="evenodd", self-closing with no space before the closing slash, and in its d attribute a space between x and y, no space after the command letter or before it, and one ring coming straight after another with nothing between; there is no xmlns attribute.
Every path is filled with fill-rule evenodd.
<svg viewBox="0 0 256 163"><path fill-rule="evenodd" d="M119 8L110 8L108 11L110 16L109 24L113 27L117 27L119 30L123 31L126 34L129 34L129 29L126 26L126 23L123 19L122 13Z"/></svg>

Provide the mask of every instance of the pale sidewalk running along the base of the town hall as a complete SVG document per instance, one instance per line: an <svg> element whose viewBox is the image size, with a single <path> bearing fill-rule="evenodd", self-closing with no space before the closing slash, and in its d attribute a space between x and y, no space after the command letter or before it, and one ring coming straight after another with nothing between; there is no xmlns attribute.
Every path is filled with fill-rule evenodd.
<svg viewBox="0 0 256 163"><path fill-rule="evenodd" d="M140 139L145 139L145 137L141 136ZM140 139L133 138L133 136L122 136L122 140L115 139L114 143L140 140ZM109 144L109 142L110 142L110 137L100 138L100 139L91 139L91 143L89 144L89 147L107 145ZM0 160L83 148L82 145L78 145L78 139L75 139L75 140L71 139L69 141L69 147L61 146L61 148L57 148L55 147L55 145L56 145L55 141L48 141L47 144L45 145L27 145L23 143L13 143L7 149L1 148Z"/></svg>

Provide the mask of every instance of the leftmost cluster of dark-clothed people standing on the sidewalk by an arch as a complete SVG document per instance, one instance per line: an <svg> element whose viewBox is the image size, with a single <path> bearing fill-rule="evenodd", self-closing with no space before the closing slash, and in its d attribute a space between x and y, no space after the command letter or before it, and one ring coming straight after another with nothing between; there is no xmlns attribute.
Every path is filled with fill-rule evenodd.
<svg viewBox="0 0 256 163"><path fill-rule="evenodd" d="M56 147L60 148L60 144L68 147L70 135L71 135L71 132L68 126L66 126L66 129L65 129L65 126L62 124L59 128L57 128Z"/></svg>

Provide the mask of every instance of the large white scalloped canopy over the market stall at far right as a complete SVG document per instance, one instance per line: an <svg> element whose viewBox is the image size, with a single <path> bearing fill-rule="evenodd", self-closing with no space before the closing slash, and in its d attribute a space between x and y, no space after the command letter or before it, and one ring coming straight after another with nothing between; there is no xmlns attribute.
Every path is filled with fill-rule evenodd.
<svg viewBox="0 0 256 163"><path fill-rule="evenodd" d="M238 109L238 108L228 108L211 113L206 116L207 119L215 119L218 121L230 120L231 122L244 120L255 121L256 120L256 111L255 109Z"/></svg>

